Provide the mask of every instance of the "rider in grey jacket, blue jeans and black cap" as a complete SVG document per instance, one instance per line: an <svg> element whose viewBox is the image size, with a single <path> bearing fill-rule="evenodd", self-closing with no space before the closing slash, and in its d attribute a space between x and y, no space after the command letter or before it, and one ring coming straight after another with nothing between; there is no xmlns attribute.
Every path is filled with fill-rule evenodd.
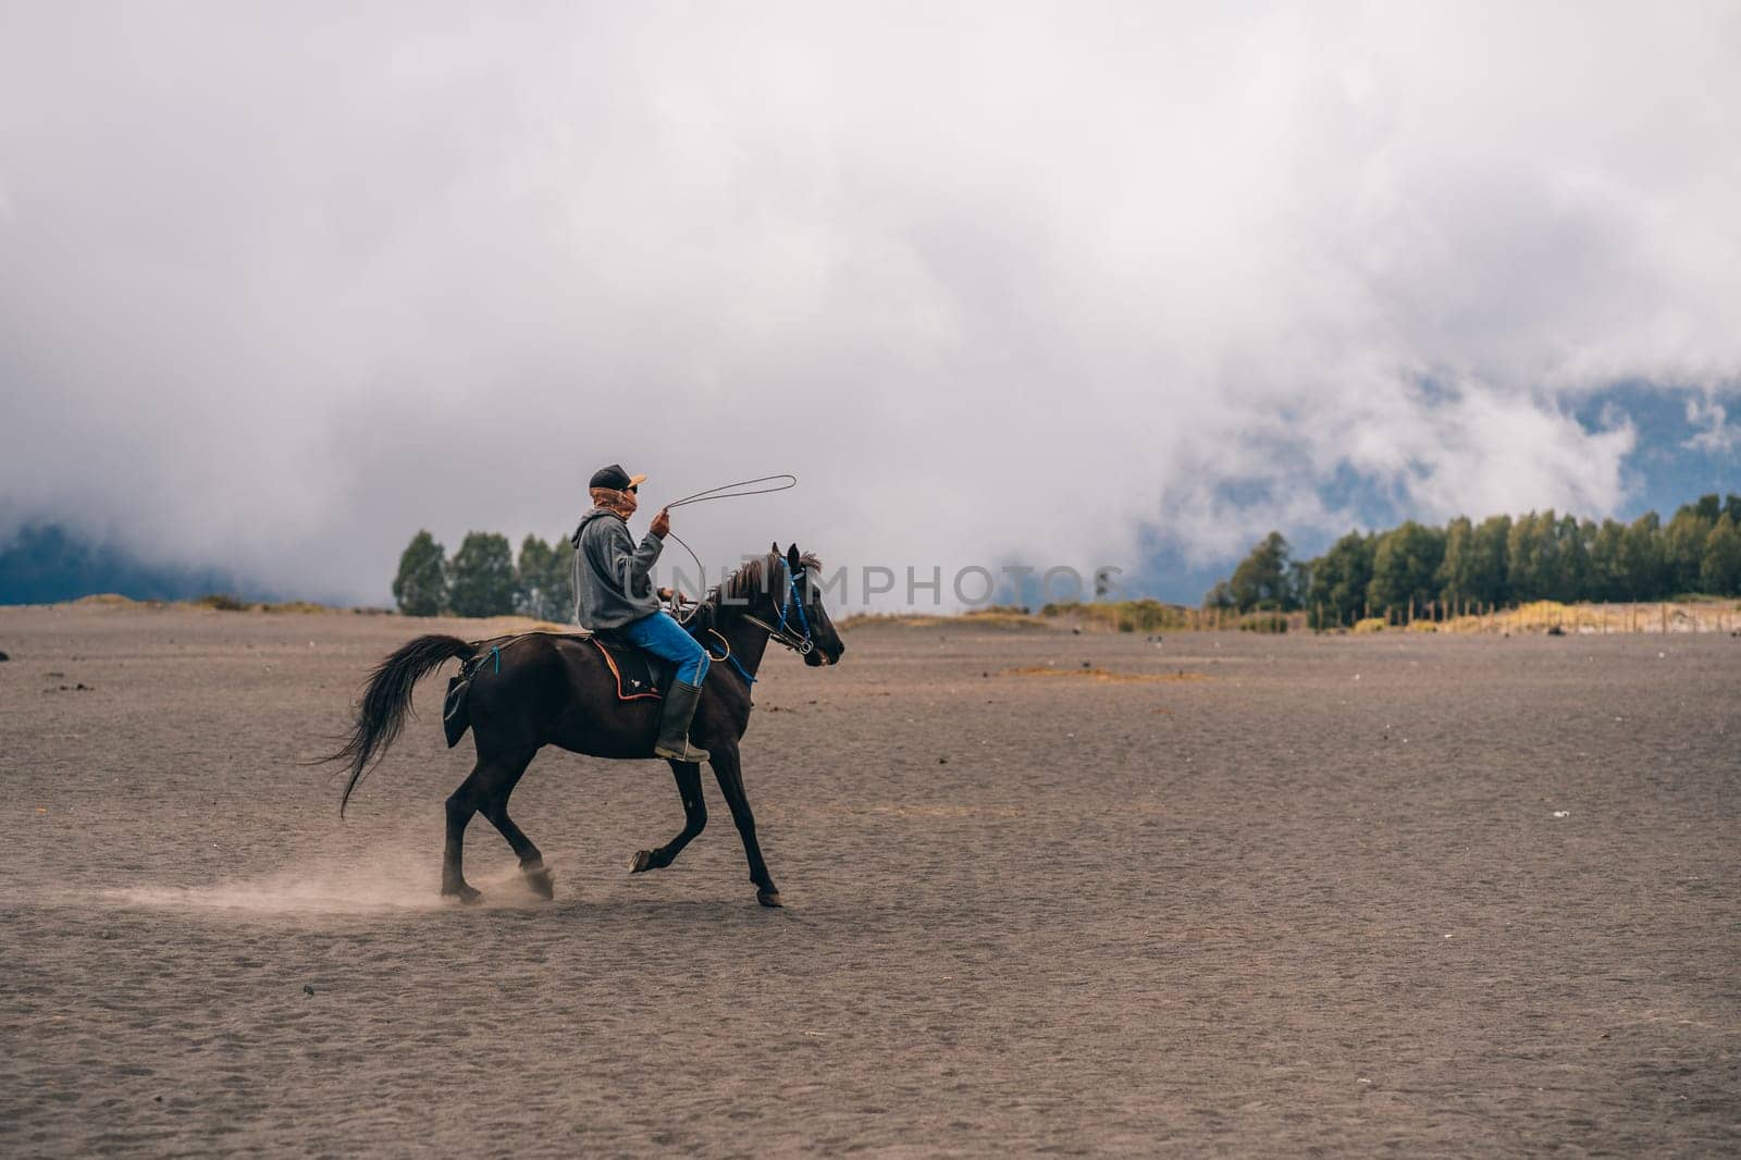
<svg viewBox="0 0 1741 1160"><path fill-rule="evenodd" d="M629 535L635 493L646 475L630 475L611 463L592 474L592 510L580 519L575 545L575 618L594 632L616 636L677 665L677 676L660 712L653 752L672 761L707 761L707 751L689 744L689 723L707 676L707 650L676 618L660 610L649 571L665 547L670 512L660 509L639 547Z"/></svg>

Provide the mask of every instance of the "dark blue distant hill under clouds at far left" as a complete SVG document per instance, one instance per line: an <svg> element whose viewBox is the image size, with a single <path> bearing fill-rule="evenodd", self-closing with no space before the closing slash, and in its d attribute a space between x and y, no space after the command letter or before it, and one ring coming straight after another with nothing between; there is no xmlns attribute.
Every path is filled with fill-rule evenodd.
<svg viewBox="0 0 1741 1160"><path fill-rule="evenodd" d="M136 601L181 601L207 592L263 597L218 570L148 564L127 549L94 543L61 524L26 524L0 540L0 604L52 604L97 592Z"/></svg>

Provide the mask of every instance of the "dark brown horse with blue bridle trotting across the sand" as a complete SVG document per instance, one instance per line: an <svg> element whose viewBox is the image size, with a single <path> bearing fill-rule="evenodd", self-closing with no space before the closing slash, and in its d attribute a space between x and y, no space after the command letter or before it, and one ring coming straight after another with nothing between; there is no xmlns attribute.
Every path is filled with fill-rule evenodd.
<svg viewBox="0 0 1741 1160"><path fill-rule="evenodd" d="M756 817L743 792L738 742L750 721L750 683L770 641L792 650L811 667L839 664L846 651L822 604L820 585L813 580L811 573L818 568L817 557L801 556L796 543L783 556L775 543L768 556L750 559L709 592L688 622L710 644L712 658L689 737L707 751L709 765L714 766L714 779L743 840L756 900L763 906L780 906L780 890L773 885L756 841ZM714 655L721 648L724 651ZM472 815L482 813L514 848L528 887L550 899L555 894L550 871L545 869L538 846L508 817L508 796L545 745L594 758L651 758L660 702L618 700L611 667L585 636L526 632L470 643L456 636L420 636L371 671L350 738L343 749L326 758L350 765L339 817L364 772L404 728L413 686L454 658L482 658L484 664L472 667L467 693L477 763L447 798L440 892L461 902L481 897L465 881L463 853L465 827ZM682 798L682 831L663 846L639 850L630 873L670 866L707 826L700 765L670 761L670 772Z"/></svg>

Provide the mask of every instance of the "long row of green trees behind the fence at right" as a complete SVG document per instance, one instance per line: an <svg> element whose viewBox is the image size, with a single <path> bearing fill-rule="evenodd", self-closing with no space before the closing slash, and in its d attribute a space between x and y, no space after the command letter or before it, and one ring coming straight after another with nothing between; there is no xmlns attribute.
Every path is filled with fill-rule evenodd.
<svg viewBox="0 0 1741 1160"><path fill-rule="evenodd" d="M1313 627L1382 617L1389 608L1433 615L1525 601L1661 601L1741 596L1741 495L1699 496L1666 524L1656 512L1600 524L1553 509L1529 516L1466 516L1443 528L1403 523L1349 531L1309 561L1290 559L1280 531L1264 536L1205 608L1304 610Z"/></svg>

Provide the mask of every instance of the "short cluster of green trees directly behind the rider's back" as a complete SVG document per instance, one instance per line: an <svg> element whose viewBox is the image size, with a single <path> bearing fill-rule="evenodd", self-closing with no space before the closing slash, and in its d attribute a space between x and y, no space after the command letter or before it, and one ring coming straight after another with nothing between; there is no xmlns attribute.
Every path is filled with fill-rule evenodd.
<svg viewBox="0 0 1741 1160"><path fill-rule="evenodd" d="M575 547L538 536L521 542L519 559L508 538L468 531L460 550L447 550L420 529L399 556L393 599L406 617L534 617L568 622L575 617Z"/></svg>

